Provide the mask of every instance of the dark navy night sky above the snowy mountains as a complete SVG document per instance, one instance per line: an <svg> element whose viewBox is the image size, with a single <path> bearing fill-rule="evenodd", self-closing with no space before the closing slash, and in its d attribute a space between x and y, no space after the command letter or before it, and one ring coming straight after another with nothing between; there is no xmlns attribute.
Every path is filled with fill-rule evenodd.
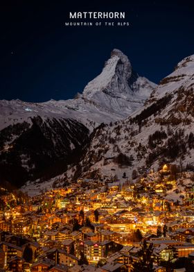
<svg viewBox="0 0 194 272"><path fill-rule="evenodd" d="M114 48L158 83L194 53L192 2L1 1L0 99L71 99L100 74ZM130 26L64 26L69 11L125 11Z"/></svg>

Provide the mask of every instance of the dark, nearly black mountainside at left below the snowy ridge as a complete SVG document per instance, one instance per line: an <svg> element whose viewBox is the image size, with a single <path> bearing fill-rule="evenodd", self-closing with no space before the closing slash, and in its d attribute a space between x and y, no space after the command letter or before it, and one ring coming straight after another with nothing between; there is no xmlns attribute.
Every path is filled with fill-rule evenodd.
<svg viewBox="0 0 194 272"><path fill-rule="evenodd" d="M89 130L73 119L42 119L8 126L0 132L0 178L19 186L51 178L76 162Z"/></svg>

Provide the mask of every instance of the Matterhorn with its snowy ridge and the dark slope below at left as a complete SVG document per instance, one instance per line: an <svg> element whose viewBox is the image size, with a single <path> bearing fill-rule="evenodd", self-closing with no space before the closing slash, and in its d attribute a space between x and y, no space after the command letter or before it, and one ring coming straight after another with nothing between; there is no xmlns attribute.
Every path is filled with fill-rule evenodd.
<svg viewBox="0 0 194 272"><path fill-rule="evenodd" d="M156 86L114 49L101 74L76 99L0 101L0 178L22 185L66 171L94 128L132 114Z"/></svg>

